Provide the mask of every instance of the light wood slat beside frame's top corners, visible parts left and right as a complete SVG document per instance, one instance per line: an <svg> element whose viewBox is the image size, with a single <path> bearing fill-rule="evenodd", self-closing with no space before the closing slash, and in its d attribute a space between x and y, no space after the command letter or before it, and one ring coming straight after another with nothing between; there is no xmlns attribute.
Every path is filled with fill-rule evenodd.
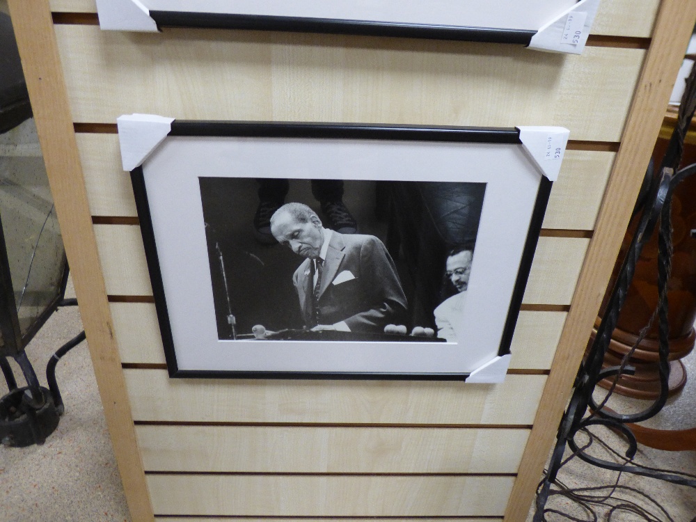
<svg viewBox="0 0 696 522"><path fill-rule="evenodd" d="M93 216L137 216L116 134L77 134ZM568 150L553 184L544 228L592 230L614 152Z"/></svg>

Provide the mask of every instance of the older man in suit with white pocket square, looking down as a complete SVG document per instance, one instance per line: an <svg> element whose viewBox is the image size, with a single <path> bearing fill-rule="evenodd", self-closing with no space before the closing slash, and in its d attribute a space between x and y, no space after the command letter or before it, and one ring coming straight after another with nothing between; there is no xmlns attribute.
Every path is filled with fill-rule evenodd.
<svg viewBox="0 0 696 522"><path fill-rule="evenodd" d="M308 328L381 333L387 324L404 322L406 296L377 237L324 228L302 203L280 207L271 217L271 233L306 258L292 283Z"/></svg>

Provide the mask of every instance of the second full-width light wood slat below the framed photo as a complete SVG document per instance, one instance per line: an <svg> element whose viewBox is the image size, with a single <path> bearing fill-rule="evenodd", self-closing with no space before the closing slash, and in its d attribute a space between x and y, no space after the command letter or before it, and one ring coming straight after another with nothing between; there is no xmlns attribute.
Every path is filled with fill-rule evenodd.
<svg viewBox="0 0 696 522"><path fill-rule="evenodd" d="M527 429L137 426L148 471L517 473Z"/></svg>

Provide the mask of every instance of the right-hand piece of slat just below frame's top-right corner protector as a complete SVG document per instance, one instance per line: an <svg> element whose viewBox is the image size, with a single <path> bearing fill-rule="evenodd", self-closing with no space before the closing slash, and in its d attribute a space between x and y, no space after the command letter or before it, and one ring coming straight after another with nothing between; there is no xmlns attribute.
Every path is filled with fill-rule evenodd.
<svg viewBox="0 0 696 522"><path fill-rule="evenodd" d="M542 227L593 230L615 157L615 152L567 150Z"/></svg>

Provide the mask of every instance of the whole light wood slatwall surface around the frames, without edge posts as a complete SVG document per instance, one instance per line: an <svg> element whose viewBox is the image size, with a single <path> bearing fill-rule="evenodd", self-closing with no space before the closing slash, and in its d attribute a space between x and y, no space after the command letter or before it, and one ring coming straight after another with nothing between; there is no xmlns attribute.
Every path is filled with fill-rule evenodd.
<svg viewBox="0 0 696 522"><path fill-rule="evenodd" d="M49 1L55 11L95 12L93 0ZM81 124L141 112L571 131L504 383L169 379L154 305L112 299L157 520L502 520L658 3L603 0L582 56L472 42L55 26L72 120ZM83 132L113 127L78 129L91 214L134 223L117 136ZM107 293L148 301L139 226L93 230Z"/></svg>

